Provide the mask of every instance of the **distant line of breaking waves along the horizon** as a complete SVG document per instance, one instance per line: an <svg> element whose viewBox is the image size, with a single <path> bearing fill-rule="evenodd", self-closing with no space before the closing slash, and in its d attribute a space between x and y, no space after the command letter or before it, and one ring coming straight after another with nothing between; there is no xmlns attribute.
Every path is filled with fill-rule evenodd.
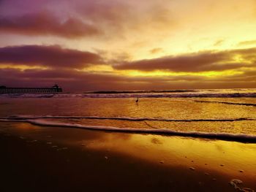
<svg viewBox="0 0 256 192"><path fill-rule="evenodd" d="M166 90L166 91L95 91L86 93L10 93L7 98L238 98L256 97L256 89Z"/></svg>

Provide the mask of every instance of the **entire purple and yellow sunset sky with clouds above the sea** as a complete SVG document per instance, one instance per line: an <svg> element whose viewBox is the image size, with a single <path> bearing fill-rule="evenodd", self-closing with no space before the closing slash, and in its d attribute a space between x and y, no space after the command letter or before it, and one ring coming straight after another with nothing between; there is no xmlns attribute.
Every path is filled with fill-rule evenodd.
<svg viewBox="0 0 256 192"><path fill-rule="evenodd" d="M256 88L255 0L0 0L0 85Z"/></svg>

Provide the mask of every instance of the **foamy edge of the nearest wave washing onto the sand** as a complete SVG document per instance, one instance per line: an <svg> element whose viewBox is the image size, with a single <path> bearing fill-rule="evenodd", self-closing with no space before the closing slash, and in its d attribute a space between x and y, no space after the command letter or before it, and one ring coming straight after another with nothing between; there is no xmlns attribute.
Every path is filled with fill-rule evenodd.
<svg viewBox="0 0 256 192"><path fill-rule="evenodd" d="M174 131L167 128L119 128L114 126L86 126L81 124L72 123L59 123L50 120L42 119L15 119L15 118L0 118L2 122L26 122L31 123L36 126L57 126L64 128L84 128L88 130L96 131L115 131L124 133L134 133L134 134L163 134L163 135L175 135L181 137L200 137L208 139L223 139L232 140L239 142L256 142L256 135L248 134L227 134L227 133L206 133L197 131Z"/></svg>

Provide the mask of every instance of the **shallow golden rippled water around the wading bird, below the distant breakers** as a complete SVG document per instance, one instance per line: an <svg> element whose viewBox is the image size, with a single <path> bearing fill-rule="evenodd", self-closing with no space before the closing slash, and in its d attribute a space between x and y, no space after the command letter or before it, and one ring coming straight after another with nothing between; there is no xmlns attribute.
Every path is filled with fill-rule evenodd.
<svg viewBox="0 0 256 192"><path fill-rule="evenodd" d="M120 131L145 129L151 134L173 134L172 131L209 136L228 134L227 139L241 135L256 141L255 100L141 98L136 104L135 98L1 98L0 116L1 120L21 118L30 123L32 119L41 126L66 123L69 127L80 128L104 126L112 131L113 128ZM192 134L187 136L193 137Z"/></svg>

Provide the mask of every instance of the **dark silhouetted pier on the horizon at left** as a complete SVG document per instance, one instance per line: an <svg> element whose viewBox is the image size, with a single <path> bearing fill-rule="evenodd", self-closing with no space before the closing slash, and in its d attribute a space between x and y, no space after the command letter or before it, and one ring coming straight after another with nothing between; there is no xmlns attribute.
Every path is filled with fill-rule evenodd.
<svg viewBox="0 0 256 192"><path fill-rule="evenodd" d="M62 92L59 85L53 85L51 88L7 88L0 86L0 94L4 93L58 93Z"/></svg>

